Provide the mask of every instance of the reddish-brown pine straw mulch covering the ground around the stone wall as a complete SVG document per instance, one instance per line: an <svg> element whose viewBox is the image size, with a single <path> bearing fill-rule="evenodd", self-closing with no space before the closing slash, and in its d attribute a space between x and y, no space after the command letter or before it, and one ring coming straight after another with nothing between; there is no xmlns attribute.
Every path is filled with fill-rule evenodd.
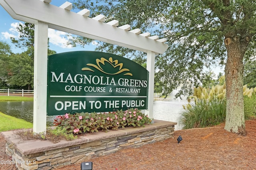
<svg viewBox="0 0 256 170"><path fill-rule="evenodd" d="M256 120L246 121L247 136L224 130L224 123L210 128L177 130L174 138L140 148L92 158L93 170L256 170ZM181 135L183 140L177 144ZM5 141L0 138L0 160ZM1 165L1 170L15 169ZM80 170L80 164L58 168Z"/></svg>

